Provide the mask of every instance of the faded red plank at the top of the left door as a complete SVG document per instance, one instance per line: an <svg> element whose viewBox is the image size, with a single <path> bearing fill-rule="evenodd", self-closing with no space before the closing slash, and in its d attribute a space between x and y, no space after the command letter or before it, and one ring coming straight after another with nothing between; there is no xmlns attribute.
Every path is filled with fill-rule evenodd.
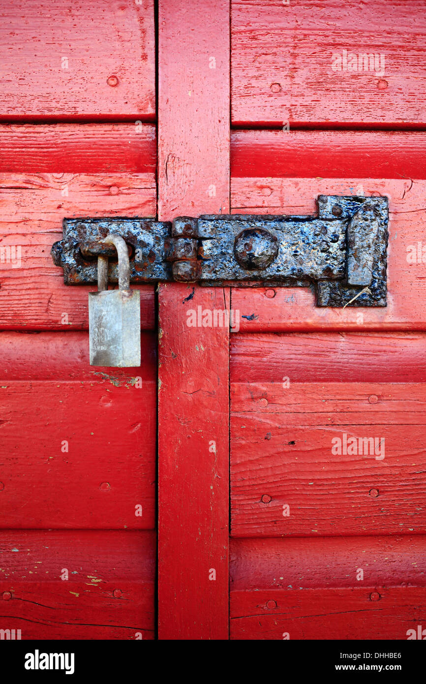
<svg viewBox="0 0 426 684"><path fill-rule="evenodd" d="M152 0L8 0L0 16L3 120L155 117Z"/></svg>

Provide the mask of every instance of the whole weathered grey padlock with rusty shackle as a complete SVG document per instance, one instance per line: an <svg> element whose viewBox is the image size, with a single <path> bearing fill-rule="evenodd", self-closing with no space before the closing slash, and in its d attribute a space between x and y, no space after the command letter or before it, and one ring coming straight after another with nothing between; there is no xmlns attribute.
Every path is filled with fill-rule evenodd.
<svg viewBox="0 0 426 684"><path fill-rule="evenodd" d="M108 257L98 257L98 291L89 293L90 365L139 366L140 293L130 289L127 244L120 235L102 241L117 250L118 290L108 289Z"/></svg>

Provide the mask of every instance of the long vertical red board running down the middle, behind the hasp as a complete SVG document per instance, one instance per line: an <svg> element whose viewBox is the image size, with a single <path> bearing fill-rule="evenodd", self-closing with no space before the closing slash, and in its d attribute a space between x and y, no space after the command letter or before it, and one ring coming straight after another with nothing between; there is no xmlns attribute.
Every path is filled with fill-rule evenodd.
<svg viewBox="0 0 426 684"><path fill-rule="evenodd" d="M159 2L159 219L229 211L229 3ZM159 288L159 638L228 637L228 328L221 288Z"/></svg>

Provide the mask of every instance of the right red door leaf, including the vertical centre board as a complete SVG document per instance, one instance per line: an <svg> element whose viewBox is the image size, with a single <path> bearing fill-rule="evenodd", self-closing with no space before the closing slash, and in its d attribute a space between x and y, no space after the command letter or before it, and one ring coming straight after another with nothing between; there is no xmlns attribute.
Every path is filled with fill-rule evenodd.
<svg viewBox="0 0 426 684"><path fill-rule="evenodd" d="M388 305L160 287L159 637L404 640L425 620L424 265L408 259L425 3L232 0L230 36L213 4L160 3L161 218L387 196ZM224 306L238 332L188 326ZM344 435L383 453L336 453Z"/></svg>

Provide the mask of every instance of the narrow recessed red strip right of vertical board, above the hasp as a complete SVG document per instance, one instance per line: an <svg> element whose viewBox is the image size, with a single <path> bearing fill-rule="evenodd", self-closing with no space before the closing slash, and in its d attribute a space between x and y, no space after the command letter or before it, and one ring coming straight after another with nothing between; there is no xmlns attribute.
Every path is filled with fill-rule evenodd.
<svg viewBox="0 0 426 684"><path fill-rule="evenodd" d="M424 133L232 131L230 150L232 178L426 178Z"/></svg>

